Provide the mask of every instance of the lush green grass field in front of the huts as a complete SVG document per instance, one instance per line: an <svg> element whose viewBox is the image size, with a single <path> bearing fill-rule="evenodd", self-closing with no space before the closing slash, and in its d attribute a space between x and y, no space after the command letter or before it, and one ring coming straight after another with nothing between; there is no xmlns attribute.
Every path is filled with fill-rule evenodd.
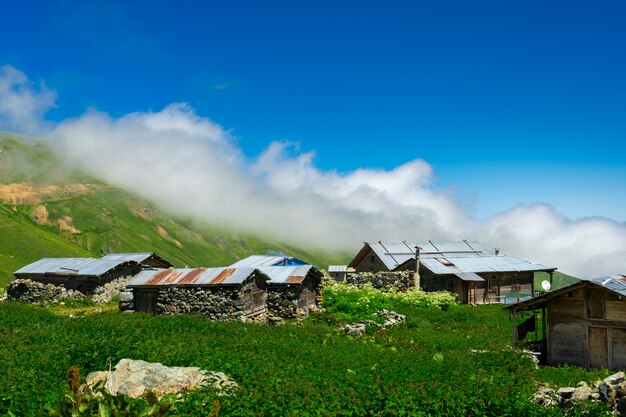
<svg viewBox="0 0 626 417"><path fill-rule="evenodd" d="M67 391L68 367L85 375L122 358L199 366L238 382L232 397L204 390L172 410L191 416L209 415L216 404L225 416L556 416L562 411L528 401L538 383L575 385L608 375L536 369L510 349L509 318L499 306L411 300L330 290L326 312L281 326L118 312L77 318L0 303L0 414L45 414ZM407 321L359 338L337 330L380 307ZM591 415L602 407L593 405ZM577 406L570 415L585 412Z"/></svg>

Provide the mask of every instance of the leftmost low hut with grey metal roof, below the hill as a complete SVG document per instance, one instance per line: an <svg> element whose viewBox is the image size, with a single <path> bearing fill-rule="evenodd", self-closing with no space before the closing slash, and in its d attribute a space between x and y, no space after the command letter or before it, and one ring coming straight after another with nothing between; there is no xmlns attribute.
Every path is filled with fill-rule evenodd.
<svg viewBox="0 0 626 417"><path fill-rule="evenodd" d="M63 286L83 294L123 276L133 276L141 265L130 260L95 258L43 258L15 271L16 279Z"/></svg>

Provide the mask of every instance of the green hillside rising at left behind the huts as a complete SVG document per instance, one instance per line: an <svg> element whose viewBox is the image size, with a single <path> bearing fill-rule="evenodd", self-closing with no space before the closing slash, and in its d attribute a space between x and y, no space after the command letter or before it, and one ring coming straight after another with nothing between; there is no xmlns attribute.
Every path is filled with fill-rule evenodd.
<svg viewBox="0 0 626 417"><path fill-rule="evenodd" d="M176 266L223 266L275 252L320 267L346 261L173 218L136 194L63 166L42 142L0 134L0 287L42 257L137 251L156 252Z"/></svg>

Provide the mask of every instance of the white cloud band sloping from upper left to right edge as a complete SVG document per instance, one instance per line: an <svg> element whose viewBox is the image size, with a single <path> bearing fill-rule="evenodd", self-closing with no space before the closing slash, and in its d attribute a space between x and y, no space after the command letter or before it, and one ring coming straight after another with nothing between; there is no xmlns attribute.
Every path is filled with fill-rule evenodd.
<svg viewBox="0 0 626 417"><path fill-rule="evenodd" d="M0 85L15 77L3 74ZM22 120L35 123L51 93L36 93L25 76L17 78L20 89L0 90L0 109L9 109L0 113L12 120L5 100L24 100L33 110ZM59 123L49 137L72 164L166 210L293 244L356 250L363 240L471 238L573 274L626 272L624 224L572 221L548 205L480 222L452 192L433 187L432 167L423 160L341 174L317 169L312 152L274 142L250 161L226 130L185 104L120 118L90 111Z"/></svg>

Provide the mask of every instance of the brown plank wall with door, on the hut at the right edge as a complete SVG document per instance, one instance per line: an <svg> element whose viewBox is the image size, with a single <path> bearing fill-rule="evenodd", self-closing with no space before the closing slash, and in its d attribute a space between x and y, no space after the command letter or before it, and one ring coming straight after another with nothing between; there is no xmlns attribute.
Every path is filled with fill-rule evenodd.
<svg viewBox="0 0 626 417"><path fill-rule="evenodd" d="M548 302L548 363L626 368L626 301L579 288Z"/></svg>

